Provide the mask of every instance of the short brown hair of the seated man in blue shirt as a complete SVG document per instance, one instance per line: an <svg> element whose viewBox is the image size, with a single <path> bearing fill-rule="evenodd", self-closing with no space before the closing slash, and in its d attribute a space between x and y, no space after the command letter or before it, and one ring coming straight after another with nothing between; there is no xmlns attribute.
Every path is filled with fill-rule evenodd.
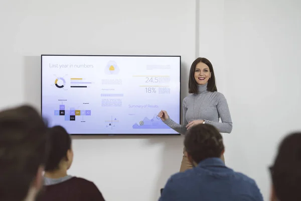
<svg viewBox="0 0 301 201"><path fill-rule="evenodd" d="M196 163L206 158L220 158L225 148L222 135L210 124L198 124L189 129L184 146Z"/></svg>

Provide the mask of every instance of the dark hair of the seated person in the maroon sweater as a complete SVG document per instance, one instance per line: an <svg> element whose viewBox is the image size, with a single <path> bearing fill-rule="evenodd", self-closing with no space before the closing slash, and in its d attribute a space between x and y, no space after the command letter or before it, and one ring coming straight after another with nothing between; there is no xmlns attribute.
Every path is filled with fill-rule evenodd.
<svg viewBox="0 0 301 201"><path fill-rule="evenodd" d="M45 171L59 169L62 159L67 159L67 151L71 149L71 137L61 126L49 129L49 157L45 165Z"/></svg>

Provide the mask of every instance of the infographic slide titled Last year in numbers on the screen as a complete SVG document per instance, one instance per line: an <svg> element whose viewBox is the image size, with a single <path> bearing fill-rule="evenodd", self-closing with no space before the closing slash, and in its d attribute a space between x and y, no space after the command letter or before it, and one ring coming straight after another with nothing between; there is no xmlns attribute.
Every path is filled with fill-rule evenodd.
<svg viewBox="0 0 301 201"><path fill-rule="evenodd" d="M42 116L73 135L176 135L180 56L42 55Z"/></svg>

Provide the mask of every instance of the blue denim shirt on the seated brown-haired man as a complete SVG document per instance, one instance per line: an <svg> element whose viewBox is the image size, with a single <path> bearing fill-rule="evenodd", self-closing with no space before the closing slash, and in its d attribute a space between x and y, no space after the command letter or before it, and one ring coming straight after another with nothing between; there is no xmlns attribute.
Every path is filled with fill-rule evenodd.
<svg viewBox="0 0 301 201"><path fill-rule="evenodd" d="M159 201L263 201L256 182L227 168L220 158L208 158L193 169L172 175Z"/></svg>

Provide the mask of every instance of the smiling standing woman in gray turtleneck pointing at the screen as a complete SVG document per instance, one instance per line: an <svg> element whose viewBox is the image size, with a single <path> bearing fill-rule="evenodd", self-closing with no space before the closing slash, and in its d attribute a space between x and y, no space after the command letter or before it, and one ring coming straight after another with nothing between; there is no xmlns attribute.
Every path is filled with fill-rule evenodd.
<svg viewBox="0 0 301 201"><path fill-rule="evenodd" d="M221 133L231 133L232 120L228 103L225 96L217 92L213 67L208 59L199 57L192 63L188 88L191 94L183 99L183 124L170 119L166 111L158 115L162 121L183 135L197 124L211 124ZM224 156L222 158L224 160ZM192 167L184 148L180 172Z"/></svg>

